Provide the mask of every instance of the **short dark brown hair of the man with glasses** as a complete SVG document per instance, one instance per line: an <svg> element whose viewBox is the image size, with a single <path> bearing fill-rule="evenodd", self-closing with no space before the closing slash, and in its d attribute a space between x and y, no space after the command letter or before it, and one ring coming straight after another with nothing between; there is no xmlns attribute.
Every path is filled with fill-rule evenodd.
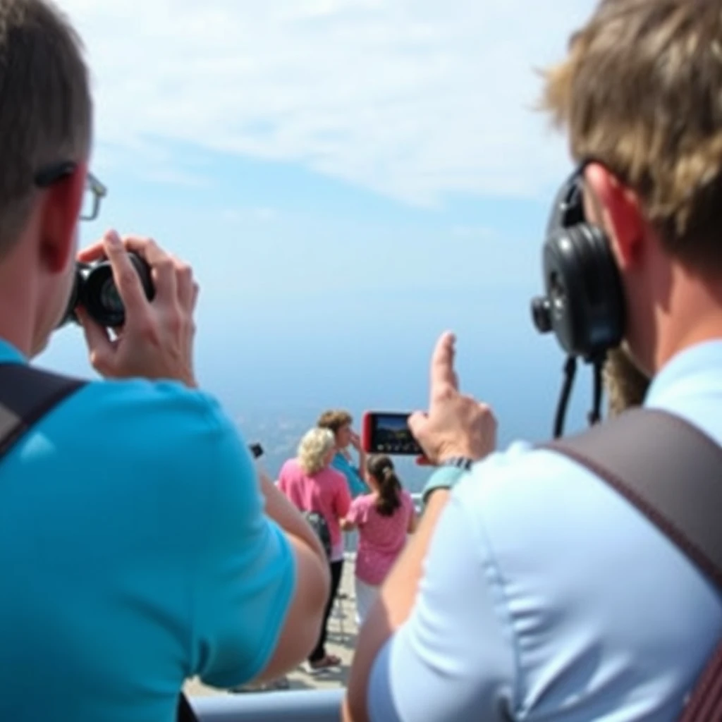
<svg viewBox="0 0 722 722"><path fill-rule="evenodd" d="M48 165L90 152L82 43L48 0L0 0L0 256L17 240Z"/></svg>

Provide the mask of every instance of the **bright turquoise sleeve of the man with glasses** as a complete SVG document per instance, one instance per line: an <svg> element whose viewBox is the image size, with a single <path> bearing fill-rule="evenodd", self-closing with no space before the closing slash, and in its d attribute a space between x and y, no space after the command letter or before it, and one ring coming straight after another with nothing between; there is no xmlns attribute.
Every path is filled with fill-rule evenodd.
<svg viewBox="0 0 722 722"><path fill-rule="evenodd" d="M242 684L273 654L295 587L295 557L264 500L245 442L210 409L207 486L193 576L193 673L216 687ZM183 529L178 529L183 534Z"/></svg>

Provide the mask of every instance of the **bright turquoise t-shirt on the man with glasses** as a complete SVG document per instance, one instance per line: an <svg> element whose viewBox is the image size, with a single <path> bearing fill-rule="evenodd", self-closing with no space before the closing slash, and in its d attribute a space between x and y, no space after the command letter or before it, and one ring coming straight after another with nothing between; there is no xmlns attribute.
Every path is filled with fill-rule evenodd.
<svg viewBox="0 0 722 722"><path fill-rule="evenodd" d="M184 679L266 666L295 561L209 396L90 383L1 461L0 490L0 719L174 722Z"/></svg>

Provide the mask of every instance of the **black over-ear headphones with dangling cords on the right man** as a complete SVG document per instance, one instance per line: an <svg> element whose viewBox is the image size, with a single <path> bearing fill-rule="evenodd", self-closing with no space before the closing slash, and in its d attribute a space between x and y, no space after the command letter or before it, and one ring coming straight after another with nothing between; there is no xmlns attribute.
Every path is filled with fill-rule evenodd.
<svg viewBox="0 0 722 722"><path fill-rule="evenodd" d="M609 240L586 222L583 170L580 165L554 200L547 225L542 264L545 295L531 301L534 326L554 332L567 353L567 380L562 390L554 435L560 436L577 358L593 364L594 401L590 422L599 420L601 367L609 349L622 342L625 297Z"/></svg>

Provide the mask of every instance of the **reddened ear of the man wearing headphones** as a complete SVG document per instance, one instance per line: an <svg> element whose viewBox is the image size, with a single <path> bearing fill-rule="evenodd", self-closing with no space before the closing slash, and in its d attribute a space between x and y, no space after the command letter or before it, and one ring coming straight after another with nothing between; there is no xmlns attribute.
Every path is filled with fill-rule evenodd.
<svg viewBox="0 0 722 722"><path fill-rule="evenodd" d="M622 269L638 264L643 253L646 221L637 194L623 186L604 165L590 163L584 173L593 217L600 218L617 263Z"/></svg>

